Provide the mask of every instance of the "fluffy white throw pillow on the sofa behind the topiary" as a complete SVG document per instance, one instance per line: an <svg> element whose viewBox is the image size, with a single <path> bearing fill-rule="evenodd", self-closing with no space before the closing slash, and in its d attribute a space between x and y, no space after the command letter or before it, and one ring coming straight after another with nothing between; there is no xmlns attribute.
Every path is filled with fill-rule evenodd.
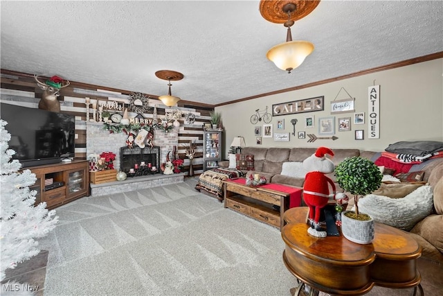
<svg viewBox="0 0 443 296"><path fill-rule="evenodd" d="M409 231L429 216L433 207L431 186L421 186L404 198L388 198L368 194L359 200L359 212L368 214L375 222Z"/></svg>

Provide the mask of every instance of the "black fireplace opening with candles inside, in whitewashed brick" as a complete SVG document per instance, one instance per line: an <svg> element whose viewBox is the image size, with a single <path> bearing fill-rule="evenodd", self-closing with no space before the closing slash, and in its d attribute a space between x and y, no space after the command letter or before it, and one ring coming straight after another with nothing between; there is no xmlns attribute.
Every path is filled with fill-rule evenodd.
<svg viewBox="0 0 443 296"><path fill-rule="evenodd" d="M120 170L135 176L159 173L160 147L121 147Z"/></svg>

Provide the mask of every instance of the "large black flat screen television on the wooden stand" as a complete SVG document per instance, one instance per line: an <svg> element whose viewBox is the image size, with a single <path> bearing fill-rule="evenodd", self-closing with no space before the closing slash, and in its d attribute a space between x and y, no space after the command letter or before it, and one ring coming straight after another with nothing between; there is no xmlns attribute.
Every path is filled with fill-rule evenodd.
<svg viewBox="0 0 443 296"><path fill-rule="evenodd" d="M8 122L12 159L24 168L74 157L75 116L1 103L0 118Z"/></svg>

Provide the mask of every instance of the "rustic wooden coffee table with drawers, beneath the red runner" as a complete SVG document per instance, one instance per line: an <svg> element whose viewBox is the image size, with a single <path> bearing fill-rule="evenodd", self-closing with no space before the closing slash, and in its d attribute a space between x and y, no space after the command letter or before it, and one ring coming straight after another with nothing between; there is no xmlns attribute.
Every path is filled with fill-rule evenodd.
<svg viewBox="0 0 443 296"><path fill-rule="evenodd" d="M244 182L239 184L230 180L225 180L223 187L224 207L282 229L284 211L289 209L289 193L266 189L266 186L253 187L245 185ZM293 190L301 193L302 189L293 188ZM274 209L273 205L280 207L280 210Z"/></svg>

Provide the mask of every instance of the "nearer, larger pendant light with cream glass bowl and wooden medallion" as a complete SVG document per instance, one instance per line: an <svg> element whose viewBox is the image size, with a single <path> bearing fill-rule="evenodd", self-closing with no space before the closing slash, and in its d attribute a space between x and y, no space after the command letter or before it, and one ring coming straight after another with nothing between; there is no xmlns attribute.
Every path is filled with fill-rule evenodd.
<svg viewBox="0 0 443 296"><path fill-rule="evenodd" d="M266 58L278 68L291 73L305 58L314 51L314 44L308 41L292 41L291 26L294 20L301 19L316 8L320 1L266 1L260 2L260 12L264 19L273 23L283 23L287 27L286 42L277 44L269 49ZM280 11L279 11L280 10ZM285 19L283 19L283 17Z"/></svg>

